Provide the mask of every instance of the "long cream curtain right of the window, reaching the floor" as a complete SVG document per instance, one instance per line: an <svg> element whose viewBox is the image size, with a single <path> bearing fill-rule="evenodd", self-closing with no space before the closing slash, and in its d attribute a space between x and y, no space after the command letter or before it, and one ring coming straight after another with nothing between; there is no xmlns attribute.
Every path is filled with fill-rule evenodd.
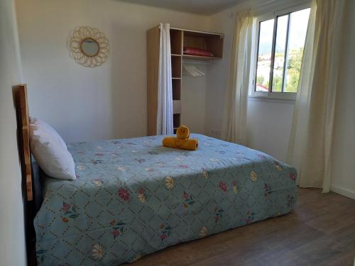
<svg viewBox="0 0 355 266"><path fill-rule="evenodd" d="M342 19L347 0L314 0L288 147L300 187L329 192Z"/></svg>

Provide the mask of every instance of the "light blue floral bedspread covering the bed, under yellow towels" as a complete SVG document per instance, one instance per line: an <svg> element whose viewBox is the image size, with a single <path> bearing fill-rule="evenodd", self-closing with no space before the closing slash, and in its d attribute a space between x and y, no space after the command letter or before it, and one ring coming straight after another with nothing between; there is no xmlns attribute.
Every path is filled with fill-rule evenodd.
<svg viewBox="0 0 355 266"><path fill-rule="evenodd" d="M204 135L196 151L162 136L73 143L78 179L50 179L35 217L40 265L119 265L176 243L286 214L296 170Z"/></svg>

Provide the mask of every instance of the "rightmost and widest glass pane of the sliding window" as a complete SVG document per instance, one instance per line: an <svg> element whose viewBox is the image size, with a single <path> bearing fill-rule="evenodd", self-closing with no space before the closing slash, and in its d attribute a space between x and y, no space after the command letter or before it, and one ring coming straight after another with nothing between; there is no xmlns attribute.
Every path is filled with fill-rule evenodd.
<svg viewBox="0 0 355 266"><path fill-rule="evenodd" d="M297 92L310 9L290 13L284 92Z"/></svg>

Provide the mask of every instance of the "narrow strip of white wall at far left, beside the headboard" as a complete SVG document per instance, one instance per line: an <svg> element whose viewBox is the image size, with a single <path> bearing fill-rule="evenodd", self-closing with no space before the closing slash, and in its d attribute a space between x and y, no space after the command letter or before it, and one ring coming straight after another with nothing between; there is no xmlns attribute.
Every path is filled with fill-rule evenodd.
<svg viewBox="0 0 355 266"><path fill-rule="evenodd" d="M12 86L22 82L12 0L0 0L0 265L26 265Z"/></svg>

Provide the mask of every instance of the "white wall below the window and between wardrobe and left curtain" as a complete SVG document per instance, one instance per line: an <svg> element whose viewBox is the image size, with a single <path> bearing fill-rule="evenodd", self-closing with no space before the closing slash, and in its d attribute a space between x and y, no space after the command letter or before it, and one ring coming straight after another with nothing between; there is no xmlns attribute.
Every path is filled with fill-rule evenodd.
<svg viewBox="0 0 355 266"><path fill-rule="evenodd" d="M233 40L234 13L244 8L246 8L246 4L234 6L211 16L209 21L210 27L214 31L225 34L223 60L211 67L207 79L206 133L215 137L219 137L219 132L222 130ZM213 108L209 106L213 106ZM286 160L293 108L294 101L249 98L247 145L280 160Z"/></svg>

